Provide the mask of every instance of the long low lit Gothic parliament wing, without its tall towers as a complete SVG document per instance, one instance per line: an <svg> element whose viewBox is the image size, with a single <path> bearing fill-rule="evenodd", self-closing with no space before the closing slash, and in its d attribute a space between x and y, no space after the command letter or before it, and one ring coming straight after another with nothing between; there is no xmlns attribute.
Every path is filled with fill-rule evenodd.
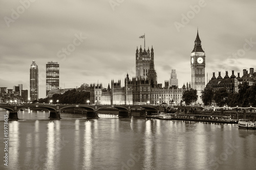
<svg viewBox="0 0 256 170"><path fill-rule="evenodd" d="M97 104L102 105L160 105L166 103L169 106L170 101L174 101L179 105L182 100L182 94L185 90L190 89L183 85L182 88L174 87L152 87L148 79L144 78L129 78L127 74L124 79L124 86L121 86L121 81L111 81L108 88L101 88L101 84L91 85L91 103L96 99ZM100 92L101 91L101 92ZM97 93L97 95L96 95ZM99 100L100 99L100 100Z"/></svg>

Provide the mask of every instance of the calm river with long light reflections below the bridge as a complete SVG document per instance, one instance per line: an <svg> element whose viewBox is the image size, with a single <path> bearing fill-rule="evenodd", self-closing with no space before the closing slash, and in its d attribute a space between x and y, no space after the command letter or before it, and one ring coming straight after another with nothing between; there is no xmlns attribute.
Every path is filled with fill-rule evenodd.
<svg viewBox="0 0 256 170"><path fill-rule="evenodd" d="M256 131L237 124L20 111L0 169L255 169Z"/></svg>

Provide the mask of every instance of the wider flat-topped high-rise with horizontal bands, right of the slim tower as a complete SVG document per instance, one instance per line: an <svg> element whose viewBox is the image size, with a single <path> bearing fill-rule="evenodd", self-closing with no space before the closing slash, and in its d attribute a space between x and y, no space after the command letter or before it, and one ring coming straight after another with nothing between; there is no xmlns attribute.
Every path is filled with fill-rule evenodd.
<svg viewBox="0 0 256 170"><path fill-rule="evenodd" d="M53 89L59 89L59 64L58 62L48 62L46 64L46 96Z"/></svg>

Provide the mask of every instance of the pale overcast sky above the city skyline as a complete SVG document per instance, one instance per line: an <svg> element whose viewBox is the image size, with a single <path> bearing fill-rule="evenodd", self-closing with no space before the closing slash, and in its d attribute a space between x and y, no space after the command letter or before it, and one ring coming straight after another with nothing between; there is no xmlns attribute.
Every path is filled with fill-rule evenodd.
<svg viewBox="0 0 256 170"><path fill-rule="evenodd" d="M256 69L256 2L239 0L0 0L0 87L23 84L39 69L46 96L46 63L60 65L60 87L135 76L137 46L153 45L158 83L176 69L179 86L191 81L190 53L199 28L205 74ZM66 49L66 50L65 50Z"/></svg>

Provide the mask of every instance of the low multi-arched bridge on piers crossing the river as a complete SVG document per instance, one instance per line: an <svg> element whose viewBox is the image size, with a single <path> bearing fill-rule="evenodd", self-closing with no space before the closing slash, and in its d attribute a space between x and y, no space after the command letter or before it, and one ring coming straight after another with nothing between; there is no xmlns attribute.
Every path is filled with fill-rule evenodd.
<svg viewBox="0 0 256 170"><path fill-rule="evenodd" d="M50 111L49 118L60 118L62 110L67 108L83 108L87 112L88 118L98 118L98 110L102 108L116 108L119 111L119 117L131 117L132 109L143 108L148 115L151 113L158 112L159 106L155 105L86 105L86 104L2 104L0 108L9 111L9 119L18 119L18 111L27 108L42 108ZM161 108L160 108L161 109Z"/></svg>

